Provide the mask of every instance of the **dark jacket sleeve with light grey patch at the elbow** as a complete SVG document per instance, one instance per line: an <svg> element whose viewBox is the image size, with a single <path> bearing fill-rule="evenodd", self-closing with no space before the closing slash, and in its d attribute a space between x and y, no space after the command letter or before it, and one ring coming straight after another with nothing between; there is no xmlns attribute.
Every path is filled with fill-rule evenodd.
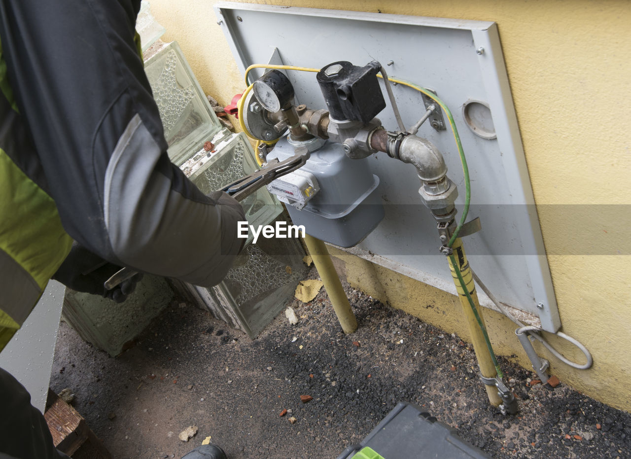
<svg viewBox="0 0 631 459"><path fill-rule="evenodd" d="M215 285L245 220L167 157L134 44L140 0L0 0L9 81L42 164L40 186L81 245L111 263Z"/></svg>

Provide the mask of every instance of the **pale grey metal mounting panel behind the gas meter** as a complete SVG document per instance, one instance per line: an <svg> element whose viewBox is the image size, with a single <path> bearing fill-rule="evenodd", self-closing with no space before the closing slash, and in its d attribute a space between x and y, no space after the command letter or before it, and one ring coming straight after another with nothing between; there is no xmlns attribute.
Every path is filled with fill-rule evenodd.
<svg viewBox="0 0 631 459"><path fill-rule="evenodd" d="M309 68L334 61L364 65L376 59L389 76L439 94L452 112L469 164L469 218L480 217L483 227L465 240L471 266L499 301L535 321L539 318L544 330L558 330L557 304L495 23L232 2L218 3L215 9L242 72L251 64L267 63L274 48L286 65ZM301 104L325 107L314 73L287 75ZM393 90L409 128L425 112L421 94L403 85ZM463 105L471 100L481 104L473 107L466 124ZM490 112L484 112L485 105ZM396 129L389 105L379 118L386 129ZM486 138L476 135L476 120L484 123L480 127ZM489 138L489 129L496 138ZM426 122L417 135L444 153L449 177L460 191L461 209L464 179L451 129L437 131ZM386 218L351 251L455 294L447 261L438 252L435 221L417 193L420 182L414 167L386 155L369 161L382 183ZM479 294L481 303L490 306Z"/></svg>

